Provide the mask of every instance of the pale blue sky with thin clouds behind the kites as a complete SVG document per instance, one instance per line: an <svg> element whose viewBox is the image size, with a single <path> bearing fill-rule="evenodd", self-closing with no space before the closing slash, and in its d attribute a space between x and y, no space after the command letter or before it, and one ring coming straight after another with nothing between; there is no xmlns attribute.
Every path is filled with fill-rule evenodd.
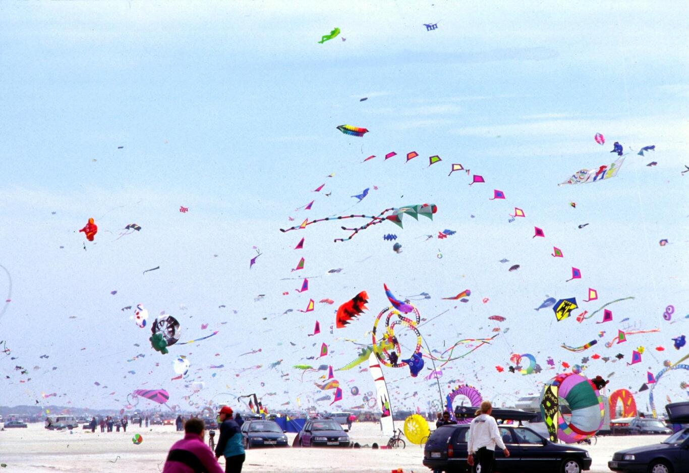
<svg viewBox="0 0 689 473"><path fill-rule="evenodd" d="M292 366L356 358L352 341L371 343L389 305L384 283L400 299L431 296L411 302L436 357L497 334L443 368L443 397L466 383L513 405L562 362L609 379L608 393L637 393L647 371L689 354L672 341L689 316L688 14L637 1L1 3L0 292L11 299L0 309L11 350L0 356L1 402L115 410L133 390L163 388L189 410L254 392L272 410L360 405L374 390L367 365L336 371L344 395L333 407L316 401L333 394L314 385L325 372ZM340 35L319 44L333 28ZM350 137L336 129L345 124L369 132ZM615 141L627 153L616 177L557 185L609 165ZM640 157L646 145L656 150ZM405 163L411 151L419 157ZM442 161L429 165L433 155ZM471 175L448 175L452 163ZM469 185L475 174L485 183ZM489 200L493 190L506 199ZM341 223L365 220L280 232L420 203L438 205L432 221L406 216L402 229L385 222L350 241L333 242L349 235ZM515 207L526 217L510 221ZM79 232L90 217L93 242ZM130 223L141 231L122 235ZM534 227L545 237L532 238ZM444 229L456 233L438 239ZM566 282L572 267L582 278ZM584 302L588 288L597 301ZM442 299L465 289L466 303ZM362 290L368 310L331 333L338 305ZM608 306L612 322L597 323L601 311L577 323L534 310L551 296L576 297L575 314L634 299ZM315 310L299 312L309 299ZM149 324L175 316L181 341L218 334L160 354L150 325L123 309L137 304ZM316 321L321 333L307 336ZM604 345L618 330L653 329ZM415 335L395 334L407 358ZM560 346L592 340L582 353ZM329 354L309 360L322 343ZM641 363L627 365L637 347ZM511 356L527 353L542 372L510 373ZM173 380L180 355L189 373ZM438 408L429 369L430 359L416 378L384 368L393 408ZM686 400L683 381L669 372L655 399ZM636 396L645 408L648 392Z"/></svg>

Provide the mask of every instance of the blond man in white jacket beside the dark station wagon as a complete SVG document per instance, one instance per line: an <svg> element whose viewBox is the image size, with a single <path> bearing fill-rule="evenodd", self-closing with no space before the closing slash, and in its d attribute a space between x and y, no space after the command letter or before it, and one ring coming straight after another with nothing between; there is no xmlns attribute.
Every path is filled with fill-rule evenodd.
<svg viewBox="0 0 689 473"><path fill-rule="evenodd" d="M500 430L497 429L497 422L491 417L491 412L493 412L491 401L483 401L476 411L476 417L469 425L469 456L466 461L471 466L474 463L481 465L481 473L493 472L495 445L502 449L505 456L510 456L510 451L507 450L500 437Z"/></svg>

